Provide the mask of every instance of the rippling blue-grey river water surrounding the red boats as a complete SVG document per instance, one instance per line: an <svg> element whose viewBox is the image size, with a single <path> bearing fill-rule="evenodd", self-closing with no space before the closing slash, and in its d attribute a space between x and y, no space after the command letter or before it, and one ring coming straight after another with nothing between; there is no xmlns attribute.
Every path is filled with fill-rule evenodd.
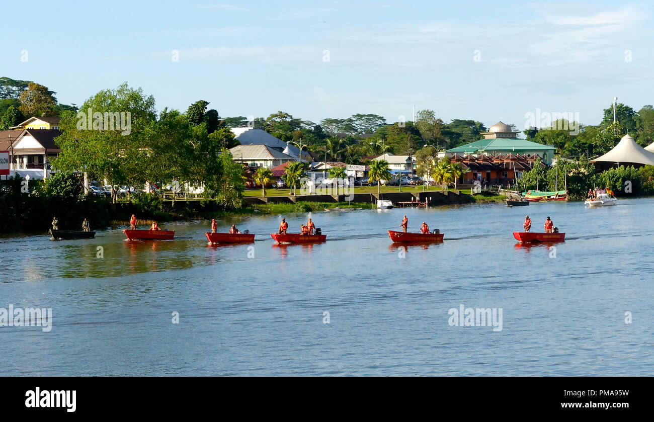
<svg viewBox="0 0 654 422"><path fill-rule="evenodd" d="M445 241L392 246L404 213ZM517 244L525 213L566 241ZM228 247L207 221L162 224L174 241L0 237L0 308L52 308L50 332L0 326L0 375L654 374L652 198L313 213L328 241L288 247L281 217L220 220L256 234ZM460 304L502 308L502 330L449 325Z"/></svg>

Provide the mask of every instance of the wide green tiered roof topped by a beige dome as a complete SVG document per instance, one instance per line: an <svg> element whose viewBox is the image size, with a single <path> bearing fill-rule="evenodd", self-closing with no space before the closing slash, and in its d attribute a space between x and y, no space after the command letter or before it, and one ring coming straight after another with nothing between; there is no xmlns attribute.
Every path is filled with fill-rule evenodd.
<svg viewBox="0 0 654 422"><path fill-rule="evenodd" d="M551 164L556 148L551 145L519 139L516 135L519 132L511 130L511 126L502 122L497 122L490 126L489 132L482 132L484 139L471 142L460 147L447 150L449 155L452 154L522 154L540 156L543 163Z"/></svg>

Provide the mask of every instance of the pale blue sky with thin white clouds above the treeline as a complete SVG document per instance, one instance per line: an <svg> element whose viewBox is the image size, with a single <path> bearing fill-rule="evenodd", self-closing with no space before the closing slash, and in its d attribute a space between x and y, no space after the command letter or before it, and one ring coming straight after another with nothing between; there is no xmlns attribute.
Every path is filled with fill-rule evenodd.
<svg viewBox="0 0 654 422"><path fill-rule="evenodd" d="M650 3L71 3L3 6L14 18L3 20L0 76L35 80L61 103L127 81L158 109L205 99L220 116L313 122L411 120L415 105L446 122L522 128L538 108L597 124L613 96L654 103Z"/></svg>

